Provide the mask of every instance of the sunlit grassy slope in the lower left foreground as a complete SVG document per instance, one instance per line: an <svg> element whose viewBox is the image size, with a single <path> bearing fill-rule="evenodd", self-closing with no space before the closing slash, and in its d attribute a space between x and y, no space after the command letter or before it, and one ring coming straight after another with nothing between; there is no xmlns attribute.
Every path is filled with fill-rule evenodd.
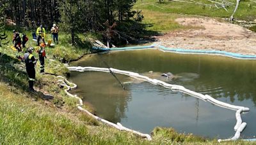
<svg viewBox="0 0 256 145"><path fill-rule="evenodd" d="M13 86L0 83L0 92L0 144L147 144L134 135L79 120L82 114L32 101Z"/></svg>

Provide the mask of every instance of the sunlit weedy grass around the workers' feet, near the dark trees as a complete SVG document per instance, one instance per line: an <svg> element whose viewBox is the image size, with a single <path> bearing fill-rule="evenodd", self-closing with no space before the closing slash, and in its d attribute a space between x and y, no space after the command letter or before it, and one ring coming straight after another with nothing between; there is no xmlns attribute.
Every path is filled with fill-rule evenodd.
<svg viewBox="0 0 256 145"><path fill-rule="evenodd" d="M38 46L36 46L36 42L32 41L32 31L24 31L22 29L15 29L19 31L20 33L24 33L28 36L29 41L26 43L26 48L22 50L22 52L18 53L17 51L14 51L10 48L12 46L12 30L15 29L15 27L8 27L6 29L6 34L8 35L9 43L3 47L0 47L0 53L5 54L6 56L12 58L12 63L17 61L16 56L21 55L23 56L26 52L26 48L29 46L33 46L35 48L35 52L33 52L33 55L38 59L38 54L36 53L36 50L38 50ZM96 38L97 36L93 34L86 34L90 38ZM91 45L86 39L87 36L85 34L79 34L79 39L76 39L77 45L71 45L70 36L68 34L60 34L59 38L59 44L52 46L52 47L46 47L46 55L47 59L45 59L45 72L51 73L51 74L58 74L58 75L65 75L68 73L68 69L63 65L63 62L70 62L72 60L77 60L80 57L82 57L84 54L90 52ZM47 34L45 41L47 42L48 39L51 39L51 34ZM10 62L10 60L8 60ZM36 69L39 70L40 63L38 61L36 65ZM40 74L36 74L36 76L41 76Z"/></svg>

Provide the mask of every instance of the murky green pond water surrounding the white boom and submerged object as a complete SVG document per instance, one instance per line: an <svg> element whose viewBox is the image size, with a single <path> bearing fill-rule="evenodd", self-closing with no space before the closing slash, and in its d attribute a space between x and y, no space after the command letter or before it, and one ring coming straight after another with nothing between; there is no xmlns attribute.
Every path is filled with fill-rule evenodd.
<svg viewBox="0 0 256 145"><path fill-rule="evenodd" d="M213 55L181 55L157 50L112 52L100 55L110 67L139 72L167 83L183 85L195 92L230 104L250 107L242 115L247 123L242 137L256 135L256 61ZM72 66L106 67L98 55L88 55ZM154 71L152 74L148 71ZM161 77L172 72L173 79ZM150 133L154 127L173 127L179 132L205 137L231 137L235 134L236 111L230 111L163 86L136 81L116 74L126 90L106 72L72 72L78 85L73 93L94 107L106 120Z"/></svg>

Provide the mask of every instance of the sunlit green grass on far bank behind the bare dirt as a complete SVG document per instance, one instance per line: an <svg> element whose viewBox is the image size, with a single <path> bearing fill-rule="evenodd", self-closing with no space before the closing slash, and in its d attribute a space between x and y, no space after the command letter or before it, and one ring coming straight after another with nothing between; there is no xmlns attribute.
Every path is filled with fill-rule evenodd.
<svg viewBox="0 0 256 145"><path fill-rule="evenodd" d="M206 0L200 0L202 3L212 4ZM230 1L236 3L236 1ZM251 7L248 6L250 4ZM235 5L234 5L235 6ZM223 8L216 10L216 7L202 6L189 3L181 3L177 1L168 1L166 3L157 3L156 0L137 1L134 5L134 10L142 10L144 16L143 23L150 24L148 31L168 32L179 31L180 29L197 29L191 26L179 25L175 22L179 17L214 17L214 18L229 18L234 6L227 8L228 12ZM252 1L241 1L239 8L234 15L234 18L239 20L255 20L256 19L256 3Z"/></svg>

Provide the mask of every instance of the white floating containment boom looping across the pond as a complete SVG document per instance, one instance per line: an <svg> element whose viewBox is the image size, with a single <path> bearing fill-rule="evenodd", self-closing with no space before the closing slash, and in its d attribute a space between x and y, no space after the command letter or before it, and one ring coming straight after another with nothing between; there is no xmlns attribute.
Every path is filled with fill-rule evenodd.
<svg viewBox="0 0 256 145"><path fill-rule="evenodd" d="M148 81L149 83L152 83L154 85L161 85L165 88L169 88L172 91L179 91L182 93L186 93L188 95L191 95L193 97L196 97L198 99L204 100L204 101L208 101L211 102L212 104L216 105L216 106L220 106L226 109L231 109L231 110L235 110L236 111L236 120L237 123L234 127L234 130L236 131L236 134L234 135L234 137L230 138L230 139L219 139L218 141L234 141L239 139L241 132L243 132L244 128L246 127L246 123L242 121L241 118L241 113L243 113L244 111L250 111L250 109L248 107L243 107L243 106L234 106L225 102L221 102L220 100L216 100L214 98L212 98L209 95L203 95L202 93L197 93L197 92L193 92L191 90L188 90L187 88L185 88L184 86L180 86L180 85L172 85L169 83L165 83L163 81L160 81L158 79L151 79L148 78L147 76L142 76L141 74L138 74L136 72L131 72L131 71L122 71L119 69L113 69L113 68L102 68L102 67L68 67L69 71L79 71L79 72L83 72L83 71L100 71L100 72L114 72L116 74L124 74L126 76L130 76L132 78L136 78L136 79L143 79L145 81ZM129 128L123 127L120 123L111 123L107 120L104 120L102 118L99 118L98 116L93 115L92 113L90 113L89 111L87 111L86 109L83 109L83 100L81 100L79 97L77 97L76 95L72 95L71 93L68 93L69 90L76 88L76 84L74 83L70 83L69 81L67 81L67 79L63 78L62 76L58 76L58 78L61 78L59 80L59 85L61 86L66 86L67 89L65 90L65 92L67 93L67 95L69 95L70 97L75 97L76 99L79 100L79 104L77 104L77 107L79 110L86 112L87 114L89 114L90 116L92 116L93 118L95 118L96 120L102 121L103 123L106 123L108 125L110 125L111 127L115 127L118 130L125 130L127 132L132 132L133 134L136 135L140 135L141 137L145 137L148 140L151 140L150 135L148 134L142 134L140 132L137 132L135 130L131 130ZM70 86L70 84L72 86Z"/></svg>

